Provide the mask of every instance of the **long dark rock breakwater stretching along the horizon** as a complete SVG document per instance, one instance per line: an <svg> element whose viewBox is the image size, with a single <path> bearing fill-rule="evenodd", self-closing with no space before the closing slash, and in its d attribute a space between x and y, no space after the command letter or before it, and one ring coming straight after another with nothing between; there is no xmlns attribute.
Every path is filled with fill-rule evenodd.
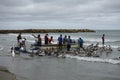
<svg viewBox="0 0 120 80"><path fill-rule="evenodd" d="M91 29L23 29L23 30L0 30L0 34L8 33L78 33L96 32Z"/></svg>

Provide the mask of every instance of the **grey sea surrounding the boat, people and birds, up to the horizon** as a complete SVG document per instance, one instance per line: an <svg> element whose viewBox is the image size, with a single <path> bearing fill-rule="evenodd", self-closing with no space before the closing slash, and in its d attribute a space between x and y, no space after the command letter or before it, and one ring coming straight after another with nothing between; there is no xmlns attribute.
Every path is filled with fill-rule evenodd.
<svg viewBox="0 0 120 80"><path fill-rule="evenodd" d="M45 33L39 33L44 43ZM18 80L120 80L120 60L113 58L120 56L120 30L96 30L85 33L48 33L53 36L54 43L60 34L71 36L77 41L84 40L84 46L96 44L102 46L101 37L105 34L105 45L111 46L113 51L102 54L99 58L66 55L65 59L52 56L34 56L20 54L11 56L10 48L17 44L18 34L0 34L0 66L7 67ZM37 33L35 33L37 35ZM35 42L32 33L23 33L27 49Z"/></svg>

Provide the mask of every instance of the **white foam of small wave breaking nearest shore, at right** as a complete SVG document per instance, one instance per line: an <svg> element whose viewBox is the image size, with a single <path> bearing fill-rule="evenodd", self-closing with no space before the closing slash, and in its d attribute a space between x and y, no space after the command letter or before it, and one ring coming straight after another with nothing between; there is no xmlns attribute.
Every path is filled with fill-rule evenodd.
<svg viewBox="0 0 120 80"><path fill-rule="evenodd" d="M114 60L114 59L102 59L102 58L94 58L94 57L79 57L79 56L71 56L71 55L66 55L66 57L74 58L74 59L77 59L80 61L120 64L120 60Z"/></svg>

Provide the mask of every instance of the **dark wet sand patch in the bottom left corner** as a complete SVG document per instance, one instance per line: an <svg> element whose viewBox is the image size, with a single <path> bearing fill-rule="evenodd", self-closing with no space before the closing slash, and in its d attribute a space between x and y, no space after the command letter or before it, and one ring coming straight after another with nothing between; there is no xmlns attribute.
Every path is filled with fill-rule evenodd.
<svg viewBox="0 0 120 80"><path fill-rule="evenodd" d="M0 66L0 80L16 80L16 76L7 68Z"/></svg>

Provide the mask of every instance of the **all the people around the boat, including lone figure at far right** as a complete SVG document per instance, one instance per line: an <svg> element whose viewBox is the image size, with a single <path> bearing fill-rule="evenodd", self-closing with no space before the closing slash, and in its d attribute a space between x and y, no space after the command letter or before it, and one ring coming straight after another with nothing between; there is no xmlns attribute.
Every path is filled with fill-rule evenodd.
<svg viewBox="0 0 120 80"><path fill-rule="evenodd" d="M38 34L37 36L32 34L32 36L34 38L37 38L37 41L36 41L36 44L35 46L41 46L42 44L42 39L41 39L41 36L40 34ZM18 41L18 45L19 47L26 47L25 45L25 41L26 41L26 38L21 36L21 33L17 36L17 41ZM53 40L53 36L51 36L50 38L48 37L48 34L45 34L44 36L44 44L47 45L47 44L52 44L54 42ZM59 49L62 49L62 46L63 45L67 45L67 51L70 50L71 48L71 43L75 43L75 40L72 40L70 36L67 37L67 35L65 35L64 37L62 37L62 34L58 37L58 46L59 46ZM78 45L80 48L83 48L83 39L80 37L78 39ZM102 36L102 44L104 46L104 43L105 43L105 34L103 34Z"/></svg>

